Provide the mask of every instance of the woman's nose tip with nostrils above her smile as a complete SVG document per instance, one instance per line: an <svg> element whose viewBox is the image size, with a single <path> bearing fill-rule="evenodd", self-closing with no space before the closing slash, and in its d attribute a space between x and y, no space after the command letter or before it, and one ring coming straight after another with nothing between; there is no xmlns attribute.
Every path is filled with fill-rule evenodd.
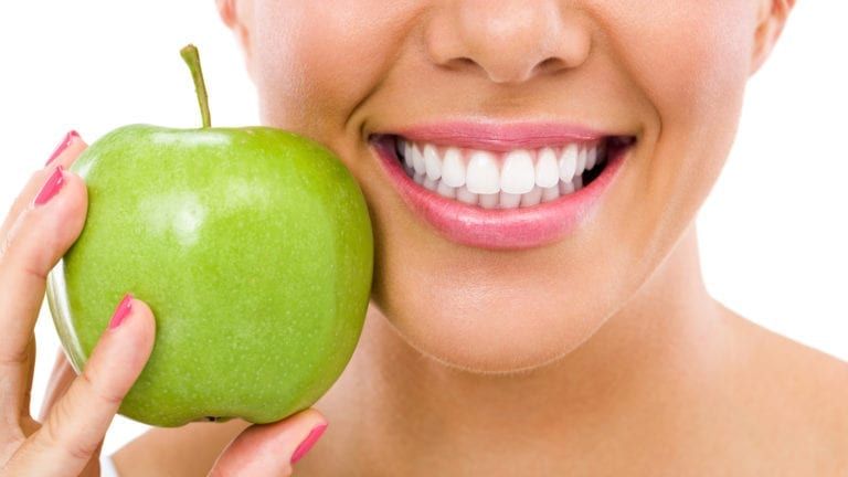
<svg viewBox="0 0 848 477"><path fill-rule="evenodd" d="M455 2L433 15L426 41L435 64L501 84L576 67L591 46L576 18L541 1Z"/></svg>

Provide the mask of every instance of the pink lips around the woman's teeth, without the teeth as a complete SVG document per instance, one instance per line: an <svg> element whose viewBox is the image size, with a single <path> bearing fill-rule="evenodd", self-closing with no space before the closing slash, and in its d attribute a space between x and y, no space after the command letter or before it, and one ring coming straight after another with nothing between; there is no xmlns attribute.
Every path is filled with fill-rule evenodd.
<svg viewBox="0 0 848 477"><path fill-rule="evenodd" d="M528 126L529 127L529 126ZM462 134L456 134L453 127L430 127L416 129L410 136L406 132L399 132L406 138L424 138L433 140L443 138L449 140L453 145L502 146L509 145L513 149L517 145L537 145L542 139L543 145L555 142L566 142L574 140L592 140L602 136L591 131L575 132L570 128L569 136L540 134L531 136L520 136L519 129L499 128L497 134L492 134L491 128L485 129L488 134L473 136L469 129L464 129ZM523 129L527 130L527 129ZM532 128L533 131L548 130L545 128ZM428 131L415 134L416 131ZM435 131L441 131L435 134ZM479 131L479 129L478 129ZM502 132L502 134L501 134ZM452 135L453 136L449 136ZM448 139L449 138L449 139ZM456 141L456 139L467 139L467 142ZM508 138L512 140L509 141ZM552 139L555 139L552 141ZM424 140L424 139L421 139ZM495 141L495 142L492 142ZM508 250L508 248L531 248L550 244L573 233L581 222L590 215L595 208L598 198L610 187L616 177L624 158L630 150L629 147L618 148L615 155L611 155L607 165L601 174L589 186L577 192L563 195L553 202L540 203L532 208L518 209L483 209L476 205L468 205L456 200L446 199L436 192L415 183L404 172L401 162L398 160L393 150L393 141L386 136L377 136L372 141L383 169L391 179L395 189L403 201L415 211L421 218L435 227L442 235L448 240L474 247ZM490 149L486 147L487 149ZM529 147L529 146L524 146Z"/></svg>

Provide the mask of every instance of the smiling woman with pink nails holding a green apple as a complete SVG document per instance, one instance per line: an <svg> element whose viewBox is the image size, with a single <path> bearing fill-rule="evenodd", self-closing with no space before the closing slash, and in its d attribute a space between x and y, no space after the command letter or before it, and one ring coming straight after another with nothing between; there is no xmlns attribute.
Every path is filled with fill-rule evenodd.
<svg viewBox="0 0 848 477"><path fill-rule="evenodd" d="M155 430L119 474L848 473L848 367L716 303L692 223L792 3L219 0L263 123L359 180L372 303L312 410ZM57 166L84 147L0 230L9 475L96 473L152 346L145 304L119 307L83 378L60 361L43 425L21 417L43 276L85 215Z"/></svg>

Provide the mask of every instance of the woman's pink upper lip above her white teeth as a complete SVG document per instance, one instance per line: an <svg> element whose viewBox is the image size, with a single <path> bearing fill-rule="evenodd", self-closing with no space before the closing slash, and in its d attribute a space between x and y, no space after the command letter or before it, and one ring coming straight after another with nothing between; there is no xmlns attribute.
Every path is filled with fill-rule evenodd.
<svg viewBox="0 0 848 477"><path fill-rule="evenodd" d="M595 141L610 136L628 136L564 123L451 121L402 127L391 132L411 141L457 146L469 149L509 151L537 149L569 142Z"/></svg>

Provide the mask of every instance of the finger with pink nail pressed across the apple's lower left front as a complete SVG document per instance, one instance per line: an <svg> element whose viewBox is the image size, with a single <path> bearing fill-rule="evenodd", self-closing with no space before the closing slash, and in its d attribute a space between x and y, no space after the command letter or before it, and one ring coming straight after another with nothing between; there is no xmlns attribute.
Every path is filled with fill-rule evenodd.
<svg viewBox="0 0 848 477"><path fill-rule="evenodd" d="M83 373L12 457L9 468L21 475L78 475L96 455L120 401L147 363L155 333L150 308L127 296Z"/></svg>

